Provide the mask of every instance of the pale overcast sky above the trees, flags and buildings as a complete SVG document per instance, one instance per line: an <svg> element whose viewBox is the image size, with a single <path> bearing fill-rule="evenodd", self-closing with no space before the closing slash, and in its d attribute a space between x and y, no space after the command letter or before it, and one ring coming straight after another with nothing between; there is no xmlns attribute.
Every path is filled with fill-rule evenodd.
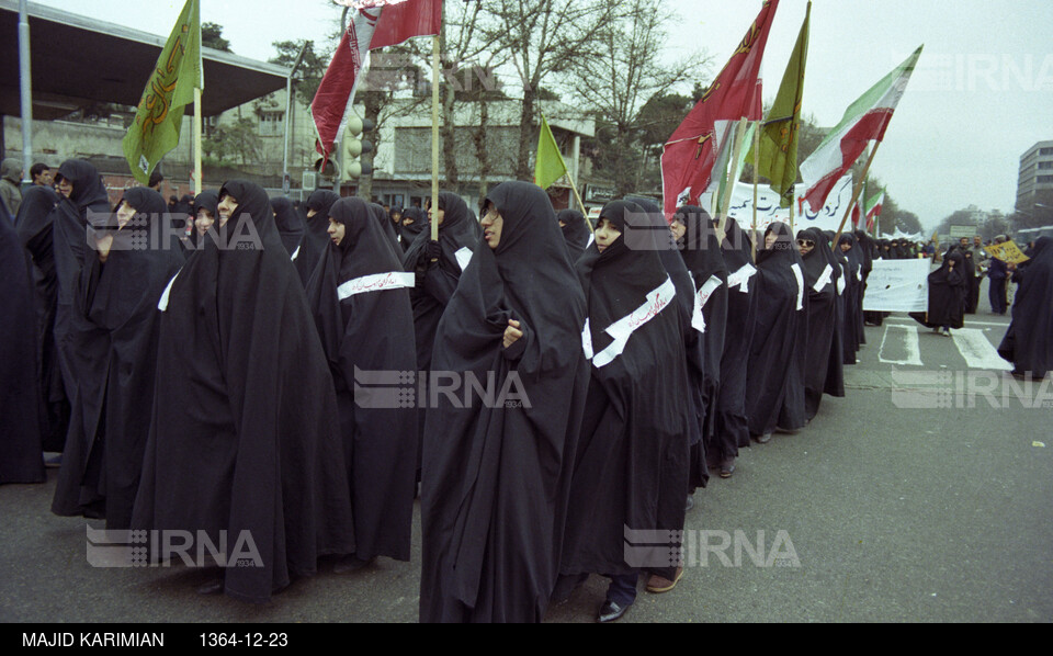
<svg viewBox="0 0 1053 656"><path fill-rule="evenodd" d="M38 0L167 35L182 1ZM456 0L446 0L456 1ZM680 13L670 50L704 48L716 73L760 0L666 0ZM765 56L770 102L804 19L806 0L781 0ZM325 0L202 0L231 49L267 59L274 41L324 39L340 9ZM816 0L804 112L833 126L845 109L925 44L918 69L874 160L873 174L924 226L971 204L1011 212L1020 155L1053 139L1053 2L1050 0ZM207 93L208 80L205 80ZM567 99L570 100L570 99ZM571 101L573 103L573 101Z"/></svg>

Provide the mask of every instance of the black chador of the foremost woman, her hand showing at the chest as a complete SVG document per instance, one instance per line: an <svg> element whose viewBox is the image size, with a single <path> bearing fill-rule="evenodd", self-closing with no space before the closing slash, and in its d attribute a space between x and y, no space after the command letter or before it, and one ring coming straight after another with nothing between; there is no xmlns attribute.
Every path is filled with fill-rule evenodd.
<svg viewBox="0 0 1053 656"><path fill-rule="evenodd" d="M567 496L589 364L585 296L548 195L503 182L502 216L439 323L432 367L471 374L523 399L480 407L439 395L429 407L421 479L423 622L539 622L563 551ZM521 323L509 349L508 321ZM516 376L512 376L516 374ZM500 397L498 397L500 398ZM521 406L517 406L521 403Z"/></svg>

